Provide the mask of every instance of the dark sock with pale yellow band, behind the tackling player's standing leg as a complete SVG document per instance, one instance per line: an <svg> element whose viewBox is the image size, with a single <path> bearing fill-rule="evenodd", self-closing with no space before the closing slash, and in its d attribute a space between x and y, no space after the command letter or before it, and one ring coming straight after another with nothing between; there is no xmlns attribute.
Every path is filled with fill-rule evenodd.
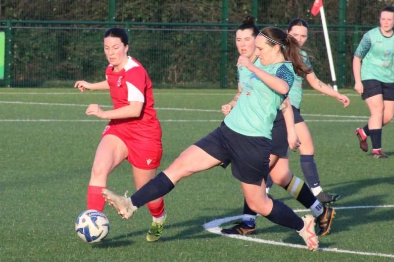
<svg viewBox="0 0 394 262"><path fill-rule="evenodd" d="M316 201L316 197L313 195L309 187L305 184L305 182L294 176L291 178L291 181L288 185L283 186L286 189L287 193L291 195L294 199L300 202L304 207L310 208L313 203Z"/></svg>

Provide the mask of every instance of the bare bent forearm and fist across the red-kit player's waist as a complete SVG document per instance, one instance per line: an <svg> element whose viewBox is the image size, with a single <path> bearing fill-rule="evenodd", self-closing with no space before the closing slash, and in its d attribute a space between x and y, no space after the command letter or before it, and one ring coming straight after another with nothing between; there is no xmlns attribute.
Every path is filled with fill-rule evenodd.
<svg viewBox="0 0 394 262"><path fill-rule="evenodd" d="M87 115L95 115L103 119L120 119L139 117L142 111L143 102L130 101L129 105L123 106L113 110L104 111L97 104L91 104L86 109Z"/></svg>

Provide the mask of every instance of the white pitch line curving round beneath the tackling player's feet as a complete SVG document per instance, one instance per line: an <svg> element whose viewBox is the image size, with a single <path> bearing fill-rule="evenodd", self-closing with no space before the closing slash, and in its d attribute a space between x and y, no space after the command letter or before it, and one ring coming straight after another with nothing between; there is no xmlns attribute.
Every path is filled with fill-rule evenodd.
<svg viewBox="0 0 394 262"><path fill-rule="evenodd" d="M335 207L335 209L366 209L366 208L394 208L394 205L383 205L383 206L353 206L353 207ZM299 213L299 212L308 212L309 209L297 209L294 210L294 212ZM229 234L222 234L220 232L221 228L220 225L224 223L228 223L233 220L241 219L242 215L239 216L233 216L233 217L226 217L226 218L221 218L221 219L215 219L212 220L208 223L205 223L203 225L204 229L207 230L208 232L225 236L225 237L230 237L230 238L235 238L235 239L241 239L245 241L253 241L253 242L258 242L258 243L263 243L263 244L270 244L270 245L280 245L280 246L287 246L287 247L295 247L295 248L302 248L302 249L307 249L307 246L305 245L299 245L299 244L291 244L291 243L284 243L284 242L278 242L278 241L273 241L273 240L266 240L262 238L256 238L256 237L248 237L245 235L229 235ZM329 252L337 252L337 253L349 253L349 254L357 254L357 255L371 255L371 256L380 256L380 257L390 257L394 258L394 254L384 254L384 253L378 253L378 252L365 252L365 251L353 251L353 250L346 250L346 249L338 249L338 248L327 248L327 247L319 247L319 250L321 251L329 251Z"/></svg>

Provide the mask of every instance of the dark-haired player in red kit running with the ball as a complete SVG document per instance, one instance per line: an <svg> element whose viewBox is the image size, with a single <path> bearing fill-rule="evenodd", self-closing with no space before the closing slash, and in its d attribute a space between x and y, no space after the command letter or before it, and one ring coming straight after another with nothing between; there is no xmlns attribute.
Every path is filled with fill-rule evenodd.
<svg viewBox="0 0 394 262"><path fill-rule="evenodd" d="M107 178L123 160L132 166L137 189L155 177L162 158L162 131L154 109L152 81L142 65L127 55L128 36L124 29L111 28L104 34L104 51L110 63L106 81L88 83L77 81L74 85L85 90L109 90L113 109L104 111L97 104L90 104L87 115L110 119L97 147L87 188L87 209L104 210L101 195L107 187ZM147 204L153 222L146 235L147 241L157 241L163 233L167 218L163 198Z"/></svg>

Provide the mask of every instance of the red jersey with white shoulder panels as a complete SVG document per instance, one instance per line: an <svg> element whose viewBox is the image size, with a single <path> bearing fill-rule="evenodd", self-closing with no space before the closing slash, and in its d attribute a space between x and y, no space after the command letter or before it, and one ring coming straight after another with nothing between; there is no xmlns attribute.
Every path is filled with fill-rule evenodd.
<svg viewBox="0 0 394 262"><path fill-rule="evenodd" d="M119 72L114 72L112 64L108 65L106 78L114 109L129 105L129 101L143 103L139 117L111 119L109 125L117 125L122 135L130 140L161 140L161 126L153 108L152 81L142 65L129 56L125 67Z"/></svg>

